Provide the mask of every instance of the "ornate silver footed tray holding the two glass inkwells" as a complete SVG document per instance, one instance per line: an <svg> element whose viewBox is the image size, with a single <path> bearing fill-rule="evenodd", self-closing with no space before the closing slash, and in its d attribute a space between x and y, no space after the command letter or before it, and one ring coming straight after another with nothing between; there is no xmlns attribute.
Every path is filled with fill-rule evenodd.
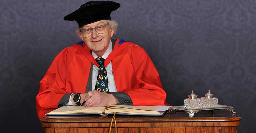
<svg viewBox="0 0 256 133"><path fill-rule="evenodd" d="M218 104L218 107L214 107L214 108L198 108L198 109L190 109L190 108L184 108L184 105L182 106L172 106L169 109L170 111L179 111L179 110L183 110L184 112L187 112L189 117L193 117L195 113L198 113L199 111L203 111L203 110L215 110L215 109L227 109L229 111L232 111L233 114L235 114L236 112L234 112L233 107L228 106L228 105L220 105Z"/></svg>

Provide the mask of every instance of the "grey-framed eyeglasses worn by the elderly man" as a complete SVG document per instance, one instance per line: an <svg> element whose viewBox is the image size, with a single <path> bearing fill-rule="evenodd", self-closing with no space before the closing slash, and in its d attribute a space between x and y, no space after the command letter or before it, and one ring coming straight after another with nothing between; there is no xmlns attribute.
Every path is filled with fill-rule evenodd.
<svg viewBox="0 0 256 133"><path fill-rule="evenodd" d="M92 35L92 30L94 29L98 34L103 34L106 33L107 31L107 26L109 25L109 23L105 24L105 25L100 25L100 26L96 26L95 28L87 28L87 29L83 29L83 30L79 30L80 33L82 33L83 37L90 37Z"/></svg>

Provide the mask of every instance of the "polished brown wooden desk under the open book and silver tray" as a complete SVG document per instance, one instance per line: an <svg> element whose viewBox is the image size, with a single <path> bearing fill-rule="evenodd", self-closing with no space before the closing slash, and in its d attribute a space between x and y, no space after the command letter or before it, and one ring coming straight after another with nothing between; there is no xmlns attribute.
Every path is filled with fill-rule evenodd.
<svg viewBox="0 0 256 133"><path fill-rule="evenodd" d="M40 121L46 133L108 133L112 117L113 115L43 117ZM221 109L200 111L192 118L186 112L172 111L164 116L116 115L115 119L118 133L236 133L241 117ZM111 132L115 132L114 122L113 125Z"/></svg>

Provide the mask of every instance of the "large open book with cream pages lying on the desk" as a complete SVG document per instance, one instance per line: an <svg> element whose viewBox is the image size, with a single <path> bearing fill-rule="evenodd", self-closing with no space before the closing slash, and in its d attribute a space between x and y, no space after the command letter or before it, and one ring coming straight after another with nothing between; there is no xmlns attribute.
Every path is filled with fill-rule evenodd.
<svg viewBox="0 0 256 133"><path fill-rule="evenodd" d="M130 106L130 105L109 105L107 107L84 107L84 106L63 106L47 113L46 115L86 115L100 114L106 116L108 114L122 115L164 115L166 110L171 106Z"/></svg>

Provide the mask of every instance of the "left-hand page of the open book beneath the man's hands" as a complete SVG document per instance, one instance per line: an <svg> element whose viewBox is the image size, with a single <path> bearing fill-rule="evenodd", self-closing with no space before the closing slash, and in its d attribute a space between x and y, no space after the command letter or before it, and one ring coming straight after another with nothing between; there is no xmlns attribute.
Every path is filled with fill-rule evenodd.
<svg viewBox="0 0 256 133"><path fill-rule="evenodd" d="M105 107L63 106L48 114L102 113Z"/></svg>

